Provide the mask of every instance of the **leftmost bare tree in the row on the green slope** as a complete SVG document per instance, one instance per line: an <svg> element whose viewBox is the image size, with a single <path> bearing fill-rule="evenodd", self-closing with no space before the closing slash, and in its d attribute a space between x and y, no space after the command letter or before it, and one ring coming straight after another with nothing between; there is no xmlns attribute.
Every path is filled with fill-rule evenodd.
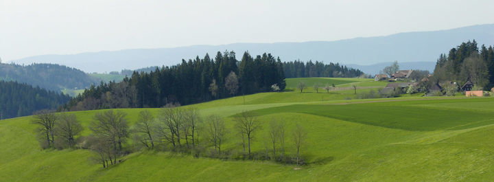
<svg viewBox="0 0 494 182"><path fill-rule="evenodd" d="M48 147L54 147L55 144L55 124L57 117L54 112L43 110L34 115L33 124L38 124L38 130L46 137Z"/></svg>

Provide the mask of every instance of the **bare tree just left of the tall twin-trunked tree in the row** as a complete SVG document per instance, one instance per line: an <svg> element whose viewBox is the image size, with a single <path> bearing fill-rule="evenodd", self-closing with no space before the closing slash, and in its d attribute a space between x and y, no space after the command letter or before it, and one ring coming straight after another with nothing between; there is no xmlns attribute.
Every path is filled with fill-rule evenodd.
<svg viewBox="0 0 494 182"><path fill-rule="evenodd" d="M217 115L211 115L208 118L207 132L209 141L215 148L215 154L221 154L221 146L226 135L224 120Z"/></svg>

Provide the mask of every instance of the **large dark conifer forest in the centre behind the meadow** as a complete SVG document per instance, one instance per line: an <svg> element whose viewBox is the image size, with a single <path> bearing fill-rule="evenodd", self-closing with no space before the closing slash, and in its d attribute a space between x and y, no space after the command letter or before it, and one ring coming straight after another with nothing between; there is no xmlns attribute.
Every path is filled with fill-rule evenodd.
<svg viewBox="0 0 494 182"><path fill-rule="evenodd" d="M172 67L134 72L123 82L101 83L86 89L64 106L65 110L125 107L161 107L169 103L193 104L239 94L285 89L283 64L271 54L238 61L235 52L217 52L214 59L183 60Z"/></svg>

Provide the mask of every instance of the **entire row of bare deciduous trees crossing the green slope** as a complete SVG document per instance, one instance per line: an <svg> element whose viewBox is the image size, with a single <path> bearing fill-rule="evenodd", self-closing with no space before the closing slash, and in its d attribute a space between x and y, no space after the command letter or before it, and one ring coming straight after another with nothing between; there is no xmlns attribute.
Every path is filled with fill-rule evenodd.
<svg viewBox="0 0 494 182"><path fill-rule="evenodd" d="M257 159L302 165L307 132L296 125L288 131L285 123L271 121L262 132L263 124L252 113L233 117L235 126L226 128L224 118L217 115L200 117L198 109L169 107L154 115L148 110L139 112L133 126L122 111L95 113L89 125L91 135L81 136L84 127L71 113L40 111L33 124L43 148L83 148L94 152L93 160L103 168L121 162L121 157L138 150L180 152L194 157L218 159ZM264 133L264 135L263 135ZM241 148L224 148L228 140L240 141ZM252 144L263 138L264 151L254 152ZM287 142L291 148L287 148ZM290 152L287 152L290 150Z"/></svg>

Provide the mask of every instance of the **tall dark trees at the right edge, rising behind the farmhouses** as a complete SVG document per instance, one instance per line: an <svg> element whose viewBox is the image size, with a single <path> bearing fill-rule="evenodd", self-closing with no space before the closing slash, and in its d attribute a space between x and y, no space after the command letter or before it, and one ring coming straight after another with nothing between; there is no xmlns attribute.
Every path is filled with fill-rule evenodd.
<svg viewBox="0 0 494 182"><path fill-rule="evenodd" d="M464 84L470 80L479 89L494 84L494 49L492 46L479 49L475 40L462 43L441 54L434 69L433 84L456 82Z"/></svg>

